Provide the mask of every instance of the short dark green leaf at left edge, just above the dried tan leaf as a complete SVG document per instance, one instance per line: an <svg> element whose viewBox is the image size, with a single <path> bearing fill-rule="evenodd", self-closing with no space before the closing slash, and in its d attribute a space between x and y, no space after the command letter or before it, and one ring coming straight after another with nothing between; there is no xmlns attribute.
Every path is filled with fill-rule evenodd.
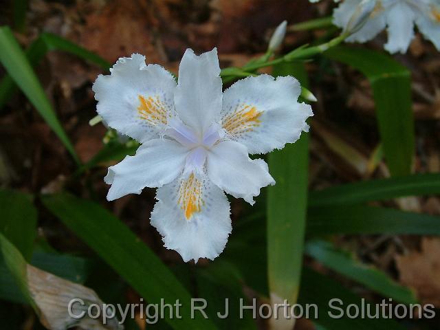
<svg viewBox="0 0 440 330"><path fill-rule="evenodd" d="M0 232L30 260L36 236L36 209L32 196L15 190L0 190Z"/></svg>

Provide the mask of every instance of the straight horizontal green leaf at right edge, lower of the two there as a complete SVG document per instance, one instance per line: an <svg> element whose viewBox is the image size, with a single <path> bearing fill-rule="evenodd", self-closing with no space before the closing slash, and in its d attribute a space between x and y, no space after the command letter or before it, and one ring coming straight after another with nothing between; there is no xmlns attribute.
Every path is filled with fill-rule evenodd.
<svg viewBox="0 0 440 330"><path fill-rule="evenodd" d="M439 235L440 217L373 206L322 206L309 208L307 234Z"/></svg>

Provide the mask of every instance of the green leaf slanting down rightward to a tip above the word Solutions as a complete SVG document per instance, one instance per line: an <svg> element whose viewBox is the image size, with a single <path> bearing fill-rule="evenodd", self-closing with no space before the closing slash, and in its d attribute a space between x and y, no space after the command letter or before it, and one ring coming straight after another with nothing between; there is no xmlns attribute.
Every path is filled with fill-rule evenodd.
<svg viewBox="0 0 440 330"><path fill-rule="evenodd" d="M416 304L414 292L399 285L384 272L354 259L328 241L314 240L305 245L305 253L331 270L361 283L369 289L404 304Z"/></svg>

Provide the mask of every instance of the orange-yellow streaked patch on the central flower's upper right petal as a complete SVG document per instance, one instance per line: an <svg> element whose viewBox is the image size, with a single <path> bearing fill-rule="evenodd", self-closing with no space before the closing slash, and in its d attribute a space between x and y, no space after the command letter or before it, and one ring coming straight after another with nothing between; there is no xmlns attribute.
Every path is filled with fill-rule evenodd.
<svg viewBox="0 0 440 330"><path fill-rule="evenodd" d="M252 131L260 126L261 112L250 104L240 104L223 120L223 128L230 134Z"/></svg>

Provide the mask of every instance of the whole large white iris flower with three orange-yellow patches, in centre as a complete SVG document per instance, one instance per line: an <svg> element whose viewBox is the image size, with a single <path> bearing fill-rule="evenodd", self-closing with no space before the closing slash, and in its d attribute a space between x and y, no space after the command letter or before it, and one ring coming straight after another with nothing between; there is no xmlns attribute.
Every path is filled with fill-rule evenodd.
<svg viewBox="0 0 440 330"><path fill-rule="evenodd" d="M97 111L111 128L141 143L134 156L111 166L107 199L157 187L151 224L184 261L214 259L231 232L224 192L254 203L260 188L275 184L263 159L298 140L311 107L298 103L291 76L239 80L222 93L217 50L186 50L178 83L145 57L120 58L93 90ZM224 191L224 192L223 192Z"/></svg>

